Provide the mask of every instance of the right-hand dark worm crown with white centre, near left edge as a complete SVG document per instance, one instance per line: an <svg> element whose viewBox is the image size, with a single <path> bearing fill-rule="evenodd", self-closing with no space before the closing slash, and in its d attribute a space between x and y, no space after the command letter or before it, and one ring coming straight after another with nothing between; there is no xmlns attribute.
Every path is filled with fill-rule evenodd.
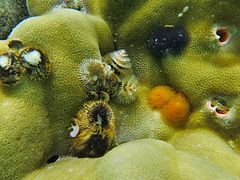
<svg viewBox="0 0 240 180"><path fill-rule="evenodd" d="M31 79L41 80L48 77L51 66L46 55L34 48L20 50L21 65L26 69L26 75Z"/></svg>

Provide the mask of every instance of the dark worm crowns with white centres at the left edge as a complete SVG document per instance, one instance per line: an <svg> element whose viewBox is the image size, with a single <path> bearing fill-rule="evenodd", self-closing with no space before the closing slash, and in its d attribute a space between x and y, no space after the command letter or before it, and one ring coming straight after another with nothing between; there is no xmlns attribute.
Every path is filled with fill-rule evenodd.
<svg viewBox="0 0 240 180"><path fill-rule="evenodd" d="M8 46L9 51L0 55L0 80L3 84L14 84L23 75L34 80L47 77L50 64L41 50L24 47L19 40L12 40Z"/></svg>

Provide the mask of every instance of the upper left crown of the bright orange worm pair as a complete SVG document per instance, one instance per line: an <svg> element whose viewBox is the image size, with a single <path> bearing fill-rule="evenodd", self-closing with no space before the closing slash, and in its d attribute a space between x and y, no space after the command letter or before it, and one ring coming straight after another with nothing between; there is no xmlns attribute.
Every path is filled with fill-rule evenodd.
<svg viewBox="0 0 240 180"><path fill-rule="evenodd" d="M151 89L148 95L148 101L151 107L161 109L164 105L168 104L171 98L175 95L172 88L168 86L156 86Z"/></svg>

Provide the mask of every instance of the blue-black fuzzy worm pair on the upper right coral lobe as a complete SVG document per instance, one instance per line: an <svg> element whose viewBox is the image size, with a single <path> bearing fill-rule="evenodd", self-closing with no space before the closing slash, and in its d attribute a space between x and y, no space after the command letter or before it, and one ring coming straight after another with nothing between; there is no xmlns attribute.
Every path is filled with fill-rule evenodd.
<svg viewBox="0 0 240 180"><path fill-rule="evenodd" d="M162 26L151 32L147 45L153 55L163 57L179 54L188 42L189 37L183 26Z"/></svg>

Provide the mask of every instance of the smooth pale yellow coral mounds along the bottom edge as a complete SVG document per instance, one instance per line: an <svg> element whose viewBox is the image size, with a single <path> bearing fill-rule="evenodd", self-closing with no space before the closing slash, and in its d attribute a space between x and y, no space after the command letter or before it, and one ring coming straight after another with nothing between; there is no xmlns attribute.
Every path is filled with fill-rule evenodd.
<svg viewBox="0 0 240 180"><path fill-rule="evenodd" d="M196 132L196 134L199 134ZM201 134L201 132L200 132ZM204 133L203 133L204 134ZM210 135L210 137L208 137ZM235 179L237 178L237 167L231 170L231 166L235 166L237 160L234 160L235 153L229 150L227 144L212 135L203 135L201 140L208 143L220 141L216 144L215 153L220 155L228 154L232 156L231 161L218 156L216 160L205 158L205 154L209 154L208 147L204 146L202 156L197 156L191 141L184 141L187 150L181 151L177 147L160 140L142 139L126 144L122 144L104 157L97 159L76 159L65 158L57 163L50 164L40 170L28 175L25 179L54 179L56 176L63 179ZM191 135L190 135L191 137ZM186 137L187 138L187 137ZM177 139L178 140L178 139ZM179 138L181 141L181 138ZM227 149L228 153L222 153L222 148ZM214 156L214 155L213 155ZM144 157L144 158L143 158ZM209 155L210 158L210 155ZM227 162L223 165L223 162ZM225 166L225 169L222 168Z"/></svg>

